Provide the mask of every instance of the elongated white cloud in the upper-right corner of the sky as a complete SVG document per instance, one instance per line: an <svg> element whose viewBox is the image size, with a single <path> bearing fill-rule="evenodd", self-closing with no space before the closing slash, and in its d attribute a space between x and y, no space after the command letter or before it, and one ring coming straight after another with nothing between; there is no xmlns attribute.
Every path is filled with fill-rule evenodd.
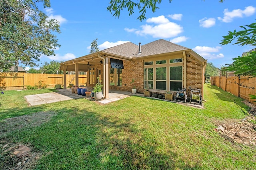
<svg viewBox="0 0 256 170"><path fill-rule="evenodd" d="M224 17L218 17L218 20L223 22L232 22L234 18L243 18L245 16L252 16L256 12L256 8L253 6L247 6L244 10L236 9L231 12L228 9L224 10Z"/></svg>

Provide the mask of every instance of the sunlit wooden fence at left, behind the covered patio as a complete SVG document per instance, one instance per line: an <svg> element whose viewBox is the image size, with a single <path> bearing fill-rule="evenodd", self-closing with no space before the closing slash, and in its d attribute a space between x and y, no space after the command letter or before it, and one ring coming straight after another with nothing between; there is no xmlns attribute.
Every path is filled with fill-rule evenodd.
<svg viewBox="0 0 256 170"><path fill-rule="evenodd" d="M66 75L66 86L70 83L76 84L74 74ZM47 85L47 88L54 88L56 84L64 84L63 74L30 74L22 72L4 72L0 73L0 90L23 90L26 86L36 86L39 83ZM87 76L79 75L79 85L86 86Z"/></svg>

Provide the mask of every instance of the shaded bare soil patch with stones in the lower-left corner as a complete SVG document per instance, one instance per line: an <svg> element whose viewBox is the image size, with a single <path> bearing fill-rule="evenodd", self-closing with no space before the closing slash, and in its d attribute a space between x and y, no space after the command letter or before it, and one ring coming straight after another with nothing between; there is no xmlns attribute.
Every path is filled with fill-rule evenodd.
<svg viewBox="0 0 256 170"><path fill-rule="evenodd" d="M35 152L29 144L26 154L15 154L21 146L24 145L12 143L11 139L7 139L8 133L19 129L30 129L37 127L50 121L52 116L56 115L54 111L37 112L30 115L12 117L3 120L0 123L0 169L2 170L27 170L36 166L37 160L40 159L42 153Z"/></svg>

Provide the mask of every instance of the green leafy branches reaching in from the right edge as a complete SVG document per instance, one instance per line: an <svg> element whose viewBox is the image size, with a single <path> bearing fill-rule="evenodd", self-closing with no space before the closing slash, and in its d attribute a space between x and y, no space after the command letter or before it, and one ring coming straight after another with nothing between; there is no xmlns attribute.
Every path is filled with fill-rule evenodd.
<svg viewBox="0 0 256 170"><path fill-rule="evenodd" d="M256 46L256 23L240 26L242 31L236 32L236 29L228 35L223 36L221 45L232 43L238 45L252 45ZM249 51L246 55L232 59L234 62L227 67L228 71L235 71L234 74L256 76L256 51ZM254 88L254 87L253 87ZM250 94L252 99L256 99L255 95Z"/></svg>

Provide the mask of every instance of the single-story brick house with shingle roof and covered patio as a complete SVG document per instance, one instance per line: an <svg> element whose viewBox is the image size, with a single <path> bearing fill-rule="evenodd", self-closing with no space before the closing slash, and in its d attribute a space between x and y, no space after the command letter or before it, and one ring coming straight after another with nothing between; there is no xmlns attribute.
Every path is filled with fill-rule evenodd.
<svg viewBox="0 0 256 170"><path fill-rule="evenodd" d="M66 71L75 71L76 75L78 71L87 72L86 86L90 87L100 77L104 98L108 98L109 90L131 91L133 86L139 93L191 87L200 89L203 96L206 64L207 60L192 49L159 39L145 45L128 42L65 61L60 70L64 70L64 88ZM78 85L78 76L75 82Z"/></svg>

